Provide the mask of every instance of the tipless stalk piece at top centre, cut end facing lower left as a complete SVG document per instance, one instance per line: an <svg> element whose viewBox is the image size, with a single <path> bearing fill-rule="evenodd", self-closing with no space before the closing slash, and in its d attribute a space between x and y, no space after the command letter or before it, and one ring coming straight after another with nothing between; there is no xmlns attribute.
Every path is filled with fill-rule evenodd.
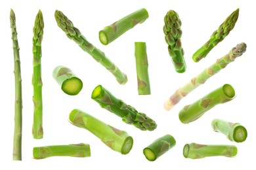
<svg viewBox="0 0 256 170"><path fill-rule="evenodd" d="M148 11L146 9L139 9L121 18L117 22L104 27L104 29L98 33L98 38L102 44L107 45L135 25L144 22L147 18Z"/></svg>

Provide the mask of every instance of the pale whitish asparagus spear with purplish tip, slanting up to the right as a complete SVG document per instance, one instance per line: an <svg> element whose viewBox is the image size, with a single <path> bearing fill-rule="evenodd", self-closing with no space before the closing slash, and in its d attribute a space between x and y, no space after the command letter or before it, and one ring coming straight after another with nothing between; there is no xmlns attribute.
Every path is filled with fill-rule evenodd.
<svg viewBox="0 0 256 170"><path fill-rule="evenodd" d="M215 75L216 73L219 73L221 69L224 69L226 65L234 61L234 59L242 56L246 50L246 44L244 42L237 44L236 47L232 48L226 56L223 58L217 59L217 61L202 71L198 76L192 78L190 82L185 84L182 88L179 88L176 90L171 97L165 102L164 108L165 110L171 110L183 97L188 95L188 93L192 92L194 89L196 89L198 86L203 84L208 78L211 78L211 76Z"/></svg>

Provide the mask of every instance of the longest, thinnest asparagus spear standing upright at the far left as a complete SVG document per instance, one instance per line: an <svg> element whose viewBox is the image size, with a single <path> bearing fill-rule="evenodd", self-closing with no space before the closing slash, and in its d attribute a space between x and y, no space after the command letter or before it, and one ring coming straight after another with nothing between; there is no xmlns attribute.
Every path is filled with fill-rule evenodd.
<svg viewBox="0 0 256 170"><path fill-rule="evenodd" d="M22 160L22 78L20 72L20 47L16 31L16 17L11 9L10 22L12 29L12 48L14 56L15 105L14 105L14 136L13 160Z"/></svg>

